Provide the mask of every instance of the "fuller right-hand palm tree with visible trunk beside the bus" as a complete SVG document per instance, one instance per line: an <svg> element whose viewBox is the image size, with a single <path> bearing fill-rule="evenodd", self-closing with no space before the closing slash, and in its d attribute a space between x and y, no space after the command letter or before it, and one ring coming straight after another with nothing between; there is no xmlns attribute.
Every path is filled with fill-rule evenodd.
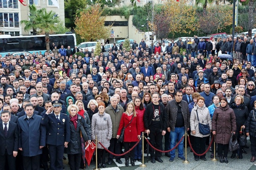
<svg viewBox="0 0 256 170"><path fill-rule="evenodd" d="M42 12L35 18L35 27L42 30L45 35L46 51L50 52L50 32L56 31L56 23L59 22L59 18L55 17L56 13L53 11L47 12L46 8L42 8Z"/></svg>

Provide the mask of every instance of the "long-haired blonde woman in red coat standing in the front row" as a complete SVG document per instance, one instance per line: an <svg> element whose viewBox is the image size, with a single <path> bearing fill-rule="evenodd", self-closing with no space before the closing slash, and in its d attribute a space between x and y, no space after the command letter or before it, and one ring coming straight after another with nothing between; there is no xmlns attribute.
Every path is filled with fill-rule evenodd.
<svg viewBox="0 0 256 170"><path fill-rule="evenodd" d="M130 102L126 106L126 111L123 113L116 138L118 139L123 127L124 129L124 152L127 152L132 148L135 143L140 139L140 122L135 111L133 102ZM129 124L130 123L130 124ZM132 166L134 163L134 149L130 153L125 154L125 166L129 166L129 154Z"/></svg>

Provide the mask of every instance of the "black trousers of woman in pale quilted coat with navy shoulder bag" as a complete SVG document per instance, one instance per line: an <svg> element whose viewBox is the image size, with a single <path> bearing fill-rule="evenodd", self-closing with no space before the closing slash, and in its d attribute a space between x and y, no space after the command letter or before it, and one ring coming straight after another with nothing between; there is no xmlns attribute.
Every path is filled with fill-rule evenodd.
<svg viewBox="0 0 256 170"><path fill-rule="evenodd" d="M194 143L196 145L193 145L194 151L197 154L202 154L205 152L205 142L207 137L193 137L194 138ZM194 158L199 158L196 154L194 154ZM200 158L205 158L205 154L203 156L200 156Z"/></svg>

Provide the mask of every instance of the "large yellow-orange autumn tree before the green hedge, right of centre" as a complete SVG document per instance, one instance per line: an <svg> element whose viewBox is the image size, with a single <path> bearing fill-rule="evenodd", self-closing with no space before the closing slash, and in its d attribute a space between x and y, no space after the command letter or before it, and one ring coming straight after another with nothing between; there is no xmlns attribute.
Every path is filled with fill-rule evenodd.
<svg viewBox="0 0 256 170"><path fill-rule="evenodd" d="M176 33L190 34L191 31L195 31L196 10L192 6L188 6L186 1L168 0L163 6L163 11L168 16L168 28L172 35Z"/></svg>

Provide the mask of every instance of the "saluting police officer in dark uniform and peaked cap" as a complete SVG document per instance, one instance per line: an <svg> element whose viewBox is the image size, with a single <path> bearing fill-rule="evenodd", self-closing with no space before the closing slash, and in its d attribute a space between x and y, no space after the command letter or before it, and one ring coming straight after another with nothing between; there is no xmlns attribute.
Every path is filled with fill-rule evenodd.
<svg viewBox="0 0 256 170"><path fill-rule="evenodd" d="M64 147L68 147L70 142L70 123L66 114L60 113L62 102L52 101L46 114L42 118L42 124L46 125L48 131L46 134L46 144L50 155L50 169L63 169ZM53 113L50 114L52 112Z"/></svg>

